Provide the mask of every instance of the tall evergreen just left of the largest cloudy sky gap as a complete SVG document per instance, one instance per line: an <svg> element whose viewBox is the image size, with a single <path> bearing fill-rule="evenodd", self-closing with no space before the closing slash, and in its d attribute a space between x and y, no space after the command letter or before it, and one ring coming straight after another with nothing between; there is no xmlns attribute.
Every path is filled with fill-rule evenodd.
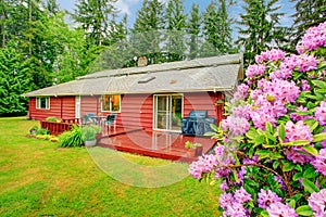
<svg viewBox="0 0 326 217"><path fill-rule="evenodd" d="M117 0L78 0L73 14L76 23L86 31L89 46L108 46L110 27L116 17L113 5Z"/></svg>

